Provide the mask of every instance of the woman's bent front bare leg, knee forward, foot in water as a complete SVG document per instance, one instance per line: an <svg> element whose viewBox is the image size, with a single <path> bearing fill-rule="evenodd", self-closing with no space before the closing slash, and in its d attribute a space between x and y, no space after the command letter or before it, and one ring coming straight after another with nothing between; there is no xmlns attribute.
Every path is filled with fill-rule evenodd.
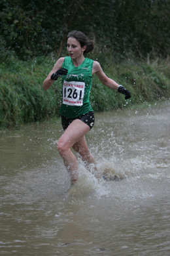
<svg viewBox="0 0 170 256"><path fill-rule="evenodd" d="M89 130L90 127L88 127L88 125L79 119L75 119L58 140L59 154L63 158L67 171L71 174L72 181L76 181L78 179L78 165L75 155L71 152L71 147L78 140L81 140Z"/></svg>

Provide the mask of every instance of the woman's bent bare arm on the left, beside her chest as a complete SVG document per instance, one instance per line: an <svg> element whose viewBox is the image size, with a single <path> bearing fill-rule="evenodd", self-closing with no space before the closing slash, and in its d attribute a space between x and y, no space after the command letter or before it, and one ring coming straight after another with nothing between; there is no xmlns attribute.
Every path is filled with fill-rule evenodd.
<svg viewBox="0 0 170 256"><path fill-rule="evenodd" d="M54 65L52 71L47 75L46 79L44 79L42 83L44 91L48 90L51 87L52 83L54 83L54 80L52 80L50 77L52 74L56 73L59 70L59 68L62 68L63 61L64 58L59 58L56 64Z"/></svg>

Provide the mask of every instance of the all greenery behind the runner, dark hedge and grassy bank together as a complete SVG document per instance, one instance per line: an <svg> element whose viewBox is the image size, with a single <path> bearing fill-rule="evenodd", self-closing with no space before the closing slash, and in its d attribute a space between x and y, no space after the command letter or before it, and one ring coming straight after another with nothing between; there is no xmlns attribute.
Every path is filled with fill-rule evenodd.
<svg viewBox="0 0 170 256"><path fill-rule="evenodd" d="M42 81L71 30L95 40L88 56L133 95L126 101L94 77L95 111L169 98L169 16L167 0L1 0L0 128L58 116L61 84L43 91Z"/></svg>

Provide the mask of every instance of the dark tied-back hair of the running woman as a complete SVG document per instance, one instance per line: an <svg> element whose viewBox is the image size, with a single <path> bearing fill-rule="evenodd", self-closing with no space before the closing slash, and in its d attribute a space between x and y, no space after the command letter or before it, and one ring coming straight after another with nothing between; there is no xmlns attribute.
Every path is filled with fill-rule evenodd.
<svg viewBox="0 0 170 256"><path fill-rule="evenodd" d="M84 47L86 45L86 50L84 53L90 53L94 49L94 41L90 40L84 33L73 30L68 33L67 38L74 37L81 45L81 47Z"/></svg>

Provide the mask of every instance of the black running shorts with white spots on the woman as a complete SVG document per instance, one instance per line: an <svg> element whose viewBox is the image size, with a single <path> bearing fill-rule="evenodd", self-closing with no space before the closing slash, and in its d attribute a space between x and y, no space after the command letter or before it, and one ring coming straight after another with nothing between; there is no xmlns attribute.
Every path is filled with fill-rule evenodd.
<svg viewBox="0 0 170 256"><path fill-rule="evenodd" d="M69 118L66 116L61 116L61 123L63 126L63 129L66 130L67 127L75 120L75 119L80 119L83 123L86 123L86 125L88 125L90 127L90 129L92 129L93 125L94 125L94 113L93 111L90 111L82 116L78 116L75 118Z"/></svg>

